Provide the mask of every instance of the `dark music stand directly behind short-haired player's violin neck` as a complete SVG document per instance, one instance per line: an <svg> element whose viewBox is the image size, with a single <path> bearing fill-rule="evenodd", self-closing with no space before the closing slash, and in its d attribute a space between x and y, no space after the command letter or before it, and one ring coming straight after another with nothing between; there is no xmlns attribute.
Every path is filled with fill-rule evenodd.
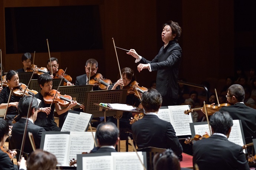
<svg viewBox="0 0 256 170"><path fill-rule="evenodd" d="M85 93L91 91L92 87L92 85L60 86L59 92L61 95L72 96L78 103L83 104L86 101ZM76 105L74 108L79 108L79 106Z"/></svg>

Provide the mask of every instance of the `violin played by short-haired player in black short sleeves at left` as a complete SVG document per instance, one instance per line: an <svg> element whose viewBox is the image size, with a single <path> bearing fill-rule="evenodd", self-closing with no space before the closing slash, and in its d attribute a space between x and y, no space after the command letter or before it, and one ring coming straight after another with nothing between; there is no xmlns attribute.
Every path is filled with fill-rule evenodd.
<svg viewBox="0 0 256 170"><path fill-rule="evenodd" d="M57 94L56 94L57 93ZM56 94L56 96L55 96ZM55 99L53 100L55 96ZM43 100L46 104L58 103L60 106L68 107L70 102L73 101L72 97L69 95L61 95L60 92L58 92L55 89L50 90L49 93L45 93L45 96L43 96ZM77 103L80 108L85 109L85 106L83 106L80 103Z"/></svg>

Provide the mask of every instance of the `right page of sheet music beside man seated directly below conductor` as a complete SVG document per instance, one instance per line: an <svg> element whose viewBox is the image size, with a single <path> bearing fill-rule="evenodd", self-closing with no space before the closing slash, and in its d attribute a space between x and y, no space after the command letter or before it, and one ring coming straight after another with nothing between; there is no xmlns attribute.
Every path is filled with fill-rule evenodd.
<svg viewBox="0 0 256 170"><path fill-rule="evenodd" d="M191 135L190 125L192 116L184 114L184 110L189 109L188 105L168 106L171 113L171 124L176 132L176 136Z"/></svg>

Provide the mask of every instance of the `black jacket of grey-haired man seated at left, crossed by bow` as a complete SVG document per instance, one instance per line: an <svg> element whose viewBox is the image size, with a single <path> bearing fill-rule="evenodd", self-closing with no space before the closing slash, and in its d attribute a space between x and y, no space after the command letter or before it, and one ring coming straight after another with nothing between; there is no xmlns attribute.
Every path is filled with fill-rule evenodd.
<svg viewBox="0 0 256 170"><path fill-rule="evenodd" d="M25 126L26 126L26 119L23 119L23 118L21 118L19 120L19 122L15 123L13 125L12 137L10 138L10 143L11 143L12 149L21 149ZM34 125L30 120L28 120L26 139L24 141L25 142L25 145L24 145L25 153L30 154L31 152L33 152L28 133L30 132L33 134L36 149L39 149L40 143L41 143L42 132L44 132L44 131L45 131L44 128Z"/></svg>

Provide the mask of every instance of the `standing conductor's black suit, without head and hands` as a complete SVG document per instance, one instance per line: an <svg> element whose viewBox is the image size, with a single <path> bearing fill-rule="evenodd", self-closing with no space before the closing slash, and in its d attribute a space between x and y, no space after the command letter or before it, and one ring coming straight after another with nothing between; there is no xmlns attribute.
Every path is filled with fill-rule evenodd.
<svg viewBox="0 0 256 170"><path fill-rule="evenodd" d="M143 58L142 64L150 63L151 71L157 71L157 91L163 96L162 106L177 105L178 71L181 62L181 47L174 40L160 49L152 61Z"/></svg>

